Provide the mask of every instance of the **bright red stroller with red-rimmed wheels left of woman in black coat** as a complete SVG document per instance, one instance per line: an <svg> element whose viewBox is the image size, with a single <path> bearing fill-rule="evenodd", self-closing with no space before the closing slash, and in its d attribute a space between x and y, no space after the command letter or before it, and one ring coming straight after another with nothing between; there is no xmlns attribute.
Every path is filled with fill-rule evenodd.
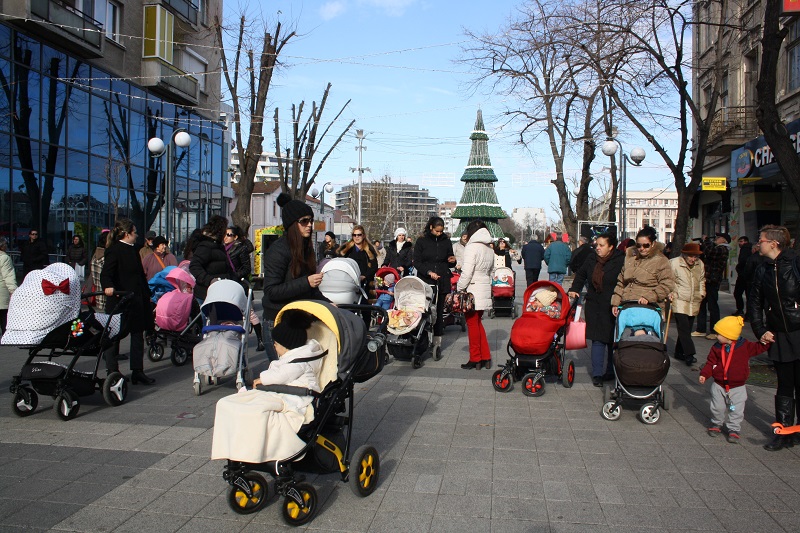
<svg viewBox="0 0 800 533"><path fill-rule="evenodd" d="M549 302L534 305L539 299ZM546 376L557 377L564 387L572 387L575 363L567 358L565 339L567 325L575 318L574 304L557 283L537 281L525 290L525 308L511 326L506 346L510 358L492 374L496 391L509 392L515 381L522 381L523 394L541 396Z"/></svg>

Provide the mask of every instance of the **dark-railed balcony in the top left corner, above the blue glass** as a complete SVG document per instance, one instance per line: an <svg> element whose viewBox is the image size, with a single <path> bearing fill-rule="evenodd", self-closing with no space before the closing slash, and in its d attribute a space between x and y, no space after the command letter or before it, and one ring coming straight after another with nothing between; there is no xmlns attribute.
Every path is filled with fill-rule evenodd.
<svg viewBox="0 0 800 533"><path fill-rule="evenodd" d="M4 6L8 4L24 6L25 2L7 2ZM83 57L102 57L103 24L86 13L61 0L30 0L30 14L17 23L29 29L35 26L37 35Z"/></svg>

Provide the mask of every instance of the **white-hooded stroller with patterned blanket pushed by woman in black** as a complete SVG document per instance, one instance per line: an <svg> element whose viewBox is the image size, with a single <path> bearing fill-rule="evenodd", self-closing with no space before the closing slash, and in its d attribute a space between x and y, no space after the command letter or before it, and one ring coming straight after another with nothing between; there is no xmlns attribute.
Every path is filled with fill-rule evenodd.
<svg viewBox="0 0 800 533"><path fill-rule="evenodd" d="M411 361L414 368L422 366L422 356L433 341L436 308L432 305L436 288L416 276L406 276L394 286L394 309L389 311L389 336L386 347L389 355L401 361ZM433 359L442 358L441 349Z"/></svg>

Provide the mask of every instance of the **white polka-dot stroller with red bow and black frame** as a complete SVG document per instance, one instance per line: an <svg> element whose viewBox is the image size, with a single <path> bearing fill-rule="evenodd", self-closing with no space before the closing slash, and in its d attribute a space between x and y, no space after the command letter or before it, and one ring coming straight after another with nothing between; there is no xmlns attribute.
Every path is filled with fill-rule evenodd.
<svg viewBox="0 0 800 533"><path fill-rule="evenodd" d="M114 314L81 311L80 279L66 263L54 263L32 271L11 296L8 329L0 343L28 351L20 373L11 378L11 408L17 416L30 416L39 405L39 395L55 399L53 409L61 420L78 415L80 398L99 390L105 402L116 407L128 395L128 379L112 372L98 377L103 351L121 335L121 316L132 292L118 293ZM53 359L65 356L66 364ZM82 358L93 357L91 371L76 368Z"/></svg>

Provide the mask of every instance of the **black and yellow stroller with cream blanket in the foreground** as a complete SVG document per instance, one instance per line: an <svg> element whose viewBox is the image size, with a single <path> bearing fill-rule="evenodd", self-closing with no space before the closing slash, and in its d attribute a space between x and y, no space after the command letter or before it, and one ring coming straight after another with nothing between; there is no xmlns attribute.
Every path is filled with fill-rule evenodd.
<svg viewBox="0 0 800 533"><path fill-rule="evenodd" d="M375 309L360 307L364 312ZM351 451L355 416L353 396L356 383L363 383L383 368L379 349L385 337L382 333L369 333L364 321L356 314L320 301L297 301L286 305L278 313L276 324L289 309L305 311L317 319L308 330L308 338L315 339L325 350L318 376L322 392L288 385L268 385L259 387L259 390L314 397L306 410L305 422L296 434L299 442L293 449L297 451L277 459L269 457L263 447L263 441L267 440L265 436L246 419L244 409L235 407L237 399L234 397L245 396L237 394L225 405L222 400L217 404L218 410L228 408L231 412L230 416L227 412L222 416L217 413L219 426L215 422L211 457L227 459L222 477L231 485L228 504L235 512L254 513L267 500L280 495L284 497L281 505L283 519L289 525L301 526L314 518L320 502L314 486L306 483L305 478L296 475L295 471L338 472L342 481L361 497L369 496L378 486L378 451L367 445ZM265 427L265 424L260 427ZM274 492L259 472L267 473L275 480Z"/></svg>

